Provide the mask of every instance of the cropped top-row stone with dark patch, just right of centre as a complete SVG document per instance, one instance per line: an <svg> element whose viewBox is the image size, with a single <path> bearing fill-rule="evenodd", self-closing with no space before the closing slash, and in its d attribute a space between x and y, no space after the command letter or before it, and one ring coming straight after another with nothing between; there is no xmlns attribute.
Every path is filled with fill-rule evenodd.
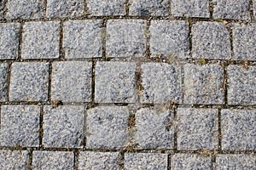
<svg viewBox="0 0 256 170"><path fill-rule="evenodd" d="M130 0L131 16L166 16L169 14L168 0Z"/></svg>

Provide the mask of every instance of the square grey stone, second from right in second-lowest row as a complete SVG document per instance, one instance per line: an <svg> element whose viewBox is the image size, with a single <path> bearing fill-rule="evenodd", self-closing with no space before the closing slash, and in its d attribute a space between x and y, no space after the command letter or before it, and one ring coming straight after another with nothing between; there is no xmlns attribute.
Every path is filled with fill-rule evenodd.
<svg viewBox="0 0 256 170"><path fill-rule="evenodd" d="M177 109L177 150L218 149L217 109Z"/></svg>

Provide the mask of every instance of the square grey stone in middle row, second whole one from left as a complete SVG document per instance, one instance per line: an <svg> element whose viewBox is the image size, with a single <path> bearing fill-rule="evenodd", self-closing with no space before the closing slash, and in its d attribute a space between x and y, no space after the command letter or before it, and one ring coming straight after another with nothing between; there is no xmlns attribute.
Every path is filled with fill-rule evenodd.
<svg viewBox="0 0 256 170"><path fill-rule="evenodd" d="M91 62L54 62L52 64L51 100L90 102L91 71Z"/></svg>

